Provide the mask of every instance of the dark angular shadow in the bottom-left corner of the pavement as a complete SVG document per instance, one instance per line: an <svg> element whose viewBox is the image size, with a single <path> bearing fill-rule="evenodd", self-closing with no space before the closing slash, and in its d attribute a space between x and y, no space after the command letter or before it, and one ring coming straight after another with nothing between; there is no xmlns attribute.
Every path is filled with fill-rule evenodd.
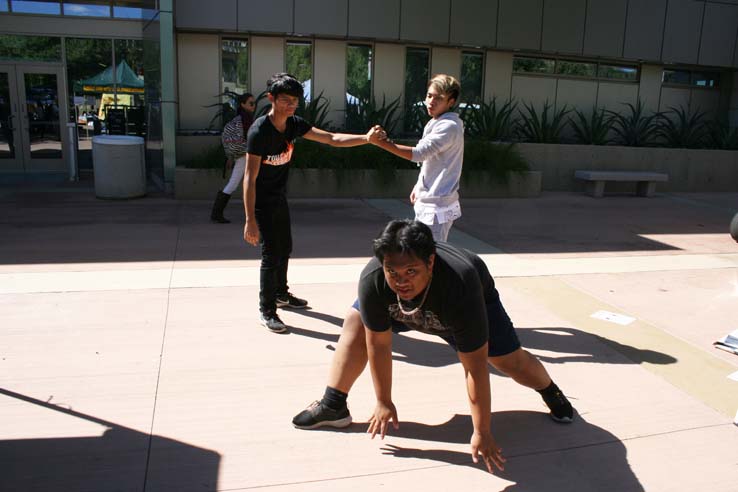
<svg viewBox="0 0 738 492"><path fill-rule="evenodd" d="M218 490L221 456L0 388L0 395L98 424L100 435L0 440L2 490Z"/></svg>

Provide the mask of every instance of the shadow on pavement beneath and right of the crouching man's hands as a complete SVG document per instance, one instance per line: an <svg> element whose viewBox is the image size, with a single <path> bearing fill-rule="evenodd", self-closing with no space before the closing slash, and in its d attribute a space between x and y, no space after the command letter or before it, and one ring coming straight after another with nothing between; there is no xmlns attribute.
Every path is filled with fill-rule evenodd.
<svg viewBox="0 0 738 492"><path fill-rule="evenodd" d="M423 449L393 443L396 438L437 443L467 444L472 434L468 415L454 415L440 425L400 422L385 437L381 452L397 458L413 458L435 463L468 466L487 473L470 453L435 447ZM627 451L616 436L589 424L577 415L572 424L551 421L545 413L505 411L492 414L492 430L507 458L505 470L495 474L515 482L506 491L591 492L618 490L641 492L643 486L628 464ZM366 424L353 424L332 432L366 432ZM481 461L481 460L480 460Z"/></svg>

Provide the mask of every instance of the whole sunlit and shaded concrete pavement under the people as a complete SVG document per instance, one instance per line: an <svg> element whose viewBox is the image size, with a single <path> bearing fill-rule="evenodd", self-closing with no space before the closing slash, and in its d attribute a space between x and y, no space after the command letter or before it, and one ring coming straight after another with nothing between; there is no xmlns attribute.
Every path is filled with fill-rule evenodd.
<svg viewBox="0 0 738 492"><path fill-rule="evenodd" d="M2 490L736 490L738 194L463 200L450 240L483 255L524 345L577 409L550 421L493 373L508 457L471 463L463 374L442 341L394 343L400 430L298 431L319 398L369 240L409 206L294 200L290 285L312 309L258 322L258 250L209 203L0 189ZM595 319L627 316L627 325Z"/></svg>

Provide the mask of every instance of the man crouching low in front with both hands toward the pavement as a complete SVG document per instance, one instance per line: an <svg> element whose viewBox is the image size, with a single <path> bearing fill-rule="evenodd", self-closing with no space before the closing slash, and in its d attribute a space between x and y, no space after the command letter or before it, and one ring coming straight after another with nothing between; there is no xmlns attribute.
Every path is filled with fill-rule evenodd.
<svg viewBox="0 0 738 492"><path fill-rule="evenodd" d="M538 359L523 350L481 258L446 243L436 244L427 225L394 220L374 241L373 258L361 274L359 299L346 316L323 399L292 420L295 427L345 427L351 423L348 392L366 367L377 405L368 432L384 438L399 426L392 403L392 332L438 335L456 349L466 373L474 433L472 459L490 473L505 458L490 430L487 364L543 397L557 422L574 417L571 404Z"/></svg>

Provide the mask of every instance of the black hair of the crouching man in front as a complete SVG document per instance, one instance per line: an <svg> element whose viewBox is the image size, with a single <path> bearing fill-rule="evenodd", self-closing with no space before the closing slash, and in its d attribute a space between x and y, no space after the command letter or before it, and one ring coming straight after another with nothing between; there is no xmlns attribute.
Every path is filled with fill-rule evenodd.
<svg viewBox="0 0 738 492"><path fill-rule="evenodd" d="M436 252L436 242L430 227L417 220L393 220L374 240L374 256L380 262L388 254L411 254L428 263Z"/></svg>

